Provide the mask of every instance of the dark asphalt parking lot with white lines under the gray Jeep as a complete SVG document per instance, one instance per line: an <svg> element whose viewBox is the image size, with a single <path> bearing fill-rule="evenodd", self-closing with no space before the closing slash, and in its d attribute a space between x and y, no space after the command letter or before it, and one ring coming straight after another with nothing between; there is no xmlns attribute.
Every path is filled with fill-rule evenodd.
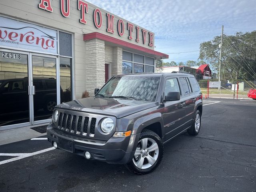
<svg viewBox="0 0 256 192"><path fill-rule="evenodd" d="M0 146L0 191L255 192L256 101L204 100L198 136L168 142L160 166L143 176L50 149L44 139Z"/></svg>

